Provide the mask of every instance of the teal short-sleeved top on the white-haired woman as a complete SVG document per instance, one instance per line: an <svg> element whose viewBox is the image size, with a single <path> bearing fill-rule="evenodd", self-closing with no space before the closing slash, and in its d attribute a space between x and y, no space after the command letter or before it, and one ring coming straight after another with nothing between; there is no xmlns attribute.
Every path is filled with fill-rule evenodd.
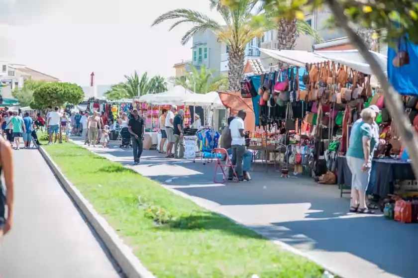
<svg viewBox="0 0 418 278"><path fill-rule="evenodd" d="M379 134L376 134L375 128L372 125L364 121L356 121L351 128L347 156L364 160L363 136L369 137L371 140L369 160L372 159L373 151L379 142Z"/></svg>

